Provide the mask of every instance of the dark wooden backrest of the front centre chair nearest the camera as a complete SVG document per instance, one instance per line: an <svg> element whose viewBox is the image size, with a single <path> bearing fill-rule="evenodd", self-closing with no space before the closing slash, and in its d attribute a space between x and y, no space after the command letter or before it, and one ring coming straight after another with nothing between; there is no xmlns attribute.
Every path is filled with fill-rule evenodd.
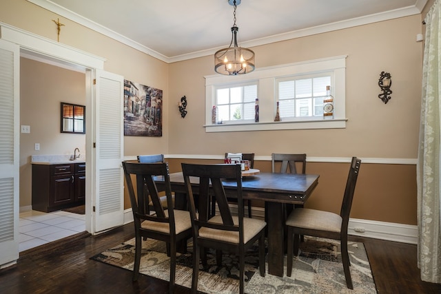
<svg viewBox="0 0 441 294"><path fill-rule="evenodd" d="M212 229L239 231L239 238L243 240L243 231L239 229L243 227L242 174L240 165L194 165L189 163L182 163L181 165L190 204L194 234L197 236L198 230L201 227L209 227ZM199 186L197 191L193 190L194 187L191 185L190 177L192 177L193 181L195 178L198 178ZM225 179L228 179L229 182L236 181L237 183L236 190L228 189L228 196L238 199L238 225L235 225L233 222L232 211L229 208L227 195L222 184L222 181ZM195 194L198 195L198 207L195 207ZM214 196L213 199L216 199L218 203L223 224L207 222L211 207L211 196ZM198 209L198 216L196 216L196 209Z"/></svg>

